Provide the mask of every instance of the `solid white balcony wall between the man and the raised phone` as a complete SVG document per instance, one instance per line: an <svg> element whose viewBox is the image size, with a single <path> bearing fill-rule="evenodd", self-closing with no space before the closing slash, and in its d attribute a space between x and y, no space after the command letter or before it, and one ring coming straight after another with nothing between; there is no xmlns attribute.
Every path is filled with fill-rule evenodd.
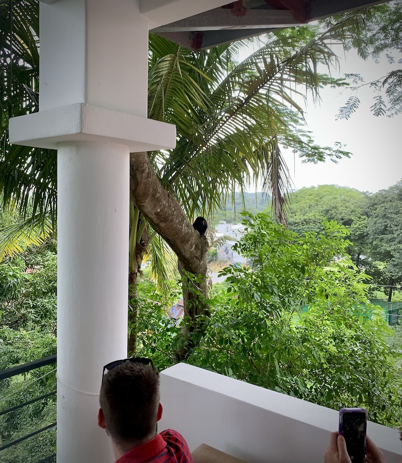
<svg viewBox="0 0 402 463"><path fill-rule="evenodd" d="M179 363L161 373L159 429L182 433L190 450L208 444L249 463L322 463L338 411ZM369 422L368 435L399 463L396 430Z"/></svg>

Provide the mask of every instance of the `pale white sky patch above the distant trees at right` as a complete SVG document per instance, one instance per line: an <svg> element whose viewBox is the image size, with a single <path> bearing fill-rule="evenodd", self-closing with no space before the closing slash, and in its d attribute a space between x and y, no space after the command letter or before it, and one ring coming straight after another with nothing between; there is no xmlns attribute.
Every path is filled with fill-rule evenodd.
<svg viewBox="0 0 402 463"><path fill-rule="evenodd" d="M339 47L340 48L340 47ZM384 58L376 64L371 58L361 59L354 50L346 56L339 50L340 69L333 70L334 77L345 73L358 73L365 82L382 77L401 64L389 65ZM400 59L402 56L396 56ZM323 72L327 72L323 69ZM376 91L369 86L358 90L360 107L347 120L336 120L339 108L352 95L349 89L325 88L320 91L321 104L311 103L305 110L306 129L312 132L317 144L334 147L335 142L345 145L352 153L335 164L302 164L289 150L284 153L296 189L312 185L334 184L376 192L394 185L402 178L402 114L394 117L376 117L370 110ZM384 98L385 99L385 98Z"/></svg>

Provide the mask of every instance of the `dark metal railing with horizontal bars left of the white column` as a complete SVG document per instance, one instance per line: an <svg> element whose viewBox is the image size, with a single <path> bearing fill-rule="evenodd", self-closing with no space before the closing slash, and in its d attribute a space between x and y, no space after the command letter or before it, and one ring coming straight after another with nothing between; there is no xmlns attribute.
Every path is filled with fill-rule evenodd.
<svg viewBox="0 0 402 463"><path fill-rule="evenodd" d="M0 397L0 407L2 404L6 405L6 408L0 408L0 419L2 420L0 427L0 463L18 463L19 461L22 463L27 461L28 455L29 461L36 461L36 463L56 461L56 453L54 453L55 435L50 436L48 434L56 430L56 421L49 423L49 418L54 417L56 412L56 404L51 400L52 397L56 396L56 390L49 390L50 387L55 389L55 383L50 375L56 371L56 368L38 376L36 371L36 377L34 374L38 368L56 362L56 355L51 355L0 371L0 382L8 380L6 384L2 385L0 383L0 386L2 386L1 391L5 393L3 397ZM15 386L20 384L18 381L20 375L23 375L24 384L22 387L16 388ZM49 378L51 378L50 381ZM48 391L43 391L46 393L35 397L33 392L29 391L32 386L36 388L36 392L43 387L48 388ZM28 398L27 395L30 393L32 395ZM16 403L21 398L22 402ZM24 400L27 398L28 400ZM42 407L40 404L42 404ZM29 424L28 416L36 420L35 424ZM23 424L22 429L19 429L20 423ZM30 429L26 429L27 423L28 426L31 426ZM34 436L39 436L38 440L32 439ZM23 442L23 445L27 446L26 448L19 446ZM46 452L49 452L49 449L53 451L52 454L43 458ZM35 454L38 455L36 460L34 459Z"/></svg>

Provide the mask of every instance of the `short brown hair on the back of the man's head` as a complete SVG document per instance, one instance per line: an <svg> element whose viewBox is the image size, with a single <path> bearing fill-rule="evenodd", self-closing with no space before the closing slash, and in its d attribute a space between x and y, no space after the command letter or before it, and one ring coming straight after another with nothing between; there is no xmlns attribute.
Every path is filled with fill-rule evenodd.
<svg viewBox="0 0 402 463"><path fill-rule="evenodd" d="M144 439L156 430L159 373L152 365L123 362L103 378L99 402L116 443Z"/></svg>

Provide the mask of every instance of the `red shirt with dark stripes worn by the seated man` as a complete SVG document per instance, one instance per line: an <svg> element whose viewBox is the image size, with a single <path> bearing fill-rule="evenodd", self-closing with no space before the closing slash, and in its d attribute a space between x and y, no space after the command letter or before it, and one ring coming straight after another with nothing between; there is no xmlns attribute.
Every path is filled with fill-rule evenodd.
<svg viewBox="0 0 402 463"><path fill-rule="evenodd" d="M184 437L167 429L152 440L132 448L116 463L193 463Z"/></svg>

